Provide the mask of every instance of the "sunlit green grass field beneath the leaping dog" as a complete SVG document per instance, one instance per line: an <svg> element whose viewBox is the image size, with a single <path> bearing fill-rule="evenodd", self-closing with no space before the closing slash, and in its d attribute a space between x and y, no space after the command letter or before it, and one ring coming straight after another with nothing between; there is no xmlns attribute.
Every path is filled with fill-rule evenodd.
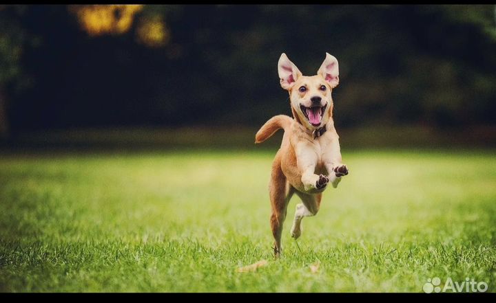
<svg viewBox="0 0 496 303"><path fill-rule="evenodd" d="M279 260L275 153L1 153L0 291L422 292L436 276L495 291L494 150L343 148L350 175L300 249L293 198Z"/></svg>

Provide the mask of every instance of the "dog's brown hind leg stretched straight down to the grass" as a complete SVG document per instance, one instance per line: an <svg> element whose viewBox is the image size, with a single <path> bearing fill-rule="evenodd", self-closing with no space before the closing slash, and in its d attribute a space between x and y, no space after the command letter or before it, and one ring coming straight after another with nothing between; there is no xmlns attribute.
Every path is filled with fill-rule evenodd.
<svg viewBox="0 0 496 303"><path fill-rule="evenodd" d="M282 173L280 162L274 161L269 194L272 206L270 223L274 238L273 251L276 257L278 257L281 252L282 225L286 218L287 205L294 192L294 188L289 185L285 175Z"/></svg>

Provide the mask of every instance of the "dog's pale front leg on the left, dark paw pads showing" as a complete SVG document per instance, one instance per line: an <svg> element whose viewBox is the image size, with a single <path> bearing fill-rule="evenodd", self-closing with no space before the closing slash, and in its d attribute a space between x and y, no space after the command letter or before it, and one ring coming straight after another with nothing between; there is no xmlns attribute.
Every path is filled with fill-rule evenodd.
<svg viewBox="0 0 496 303"><path fill-rule="evenodd" d="M296 147L296 161L298 170L301 172L304 190L320 190L327 186L329 178L315 173L318 157L316 151L309 144L298 144Z"/></svg>

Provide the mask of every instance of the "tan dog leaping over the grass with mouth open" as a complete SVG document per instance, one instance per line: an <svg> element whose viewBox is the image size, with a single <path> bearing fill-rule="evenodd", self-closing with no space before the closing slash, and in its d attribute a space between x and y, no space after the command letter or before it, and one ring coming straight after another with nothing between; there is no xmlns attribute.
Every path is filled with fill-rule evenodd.
<svg viewBox="0 0 496 303"><path fill-rule="evenodd" d="M293 119L287 115L271 117L256 133L255 143L264 142L279 128L285 133L272 163L269 194L271 228L275 239L274 254L281 251L282 224L293 194L303 203L296 205L291 236L301 236L304 216L317 214L322 192L331 182L337 187L348 175L342 164L339 136L332 118L331 92L339 83L338 60L326 53L316 76L302 76L286 54L279 58L280 85L289 91Z"/></svg>

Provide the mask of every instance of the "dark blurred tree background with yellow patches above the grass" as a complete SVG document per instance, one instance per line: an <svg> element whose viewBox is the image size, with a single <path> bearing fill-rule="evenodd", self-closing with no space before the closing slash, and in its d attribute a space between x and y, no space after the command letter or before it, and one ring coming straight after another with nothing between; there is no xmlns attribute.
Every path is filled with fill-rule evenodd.
<svg viewBox="0 0 496 303"><path fill-rule="evenodd" d="M345 146L495 143L495 5L1 5L1 142L254 147L282 52L338 58Z"/></svg>

